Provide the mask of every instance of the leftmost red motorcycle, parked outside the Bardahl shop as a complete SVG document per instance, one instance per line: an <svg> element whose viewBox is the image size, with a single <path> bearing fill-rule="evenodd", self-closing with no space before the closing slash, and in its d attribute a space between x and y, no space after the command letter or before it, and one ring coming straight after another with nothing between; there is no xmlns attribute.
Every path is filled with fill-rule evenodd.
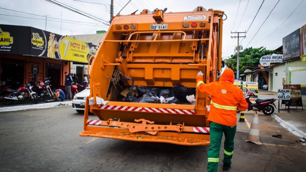
<svg viewBox="0 0 306 172"><path fill-rule="evenodd" d="M31 101L35 104L38 103L38 95L36 92L32 90L32 79L27 85L23 85L19 87L17 90L13 90L10 88L6 88L4 90L3 96L2 96L2 102L6 105L10 105L13 103L14 100L23 100L27 94L29 94L29 97Z"/></svg>

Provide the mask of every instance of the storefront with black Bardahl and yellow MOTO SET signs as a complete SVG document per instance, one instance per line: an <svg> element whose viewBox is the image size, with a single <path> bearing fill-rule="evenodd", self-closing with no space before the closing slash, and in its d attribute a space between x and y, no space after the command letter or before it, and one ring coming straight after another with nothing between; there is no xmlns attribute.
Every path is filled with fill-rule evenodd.
<svg viewBox="0 0 306 172"><path fill-rule="evenodd" d="M65 83L70 62L88 63L95 47L32 27L0 25L0 84L17 88L32 78L51 77L52 88Z"/></svg>

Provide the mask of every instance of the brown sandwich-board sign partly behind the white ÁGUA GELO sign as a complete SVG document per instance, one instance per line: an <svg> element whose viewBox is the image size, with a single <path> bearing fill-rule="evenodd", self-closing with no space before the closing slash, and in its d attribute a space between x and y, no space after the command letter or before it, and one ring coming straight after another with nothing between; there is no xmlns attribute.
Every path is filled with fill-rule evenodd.
<svg viewBox="0 0 306 172"><path fill-rule="evenodd" d="M290 90L290 106L302 107L302 94L301 94L301 85L289 85L285 84L284 89ZM285 100L282 101L282 104L285 104Z"/></svg>

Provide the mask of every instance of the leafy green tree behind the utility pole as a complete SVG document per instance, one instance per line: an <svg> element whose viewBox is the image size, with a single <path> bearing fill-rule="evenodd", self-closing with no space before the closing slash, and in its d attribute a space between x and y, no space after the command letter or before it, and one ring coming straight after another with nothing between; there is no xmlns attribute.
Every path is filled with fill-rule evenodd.
<svg viewBox="0 0 306 172"><path fill-rule="evenodd" d="M249 47L239 52L239 73L246 69L255 69L259 65L259 59L264 55L276 53L275 50L267 50L266 47L253 48ZM237 53L232 54L230 58L224 60L225 65L233 69L236 75L237 71Z"/></svg>

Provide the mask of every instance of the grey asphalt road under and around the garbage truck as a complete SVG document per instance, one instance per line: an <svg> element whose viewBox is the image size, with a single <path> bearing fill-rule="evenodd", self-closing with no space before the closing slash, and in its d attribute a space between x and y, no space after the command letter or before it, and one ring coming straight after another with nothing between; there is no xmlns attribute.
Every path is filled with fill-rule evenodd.
<svg viewBox="0 0 306 172"><path fill-rule="evenodd" d="M245 116L251 123L252 114ZM270 116L259 114L259 123L263 145L244 142L248 127L238 123L229 171L306 171L306 146ZM80 137L82 125L71 106L1 112L0 171L206 171L208 146Z"/></svg>

